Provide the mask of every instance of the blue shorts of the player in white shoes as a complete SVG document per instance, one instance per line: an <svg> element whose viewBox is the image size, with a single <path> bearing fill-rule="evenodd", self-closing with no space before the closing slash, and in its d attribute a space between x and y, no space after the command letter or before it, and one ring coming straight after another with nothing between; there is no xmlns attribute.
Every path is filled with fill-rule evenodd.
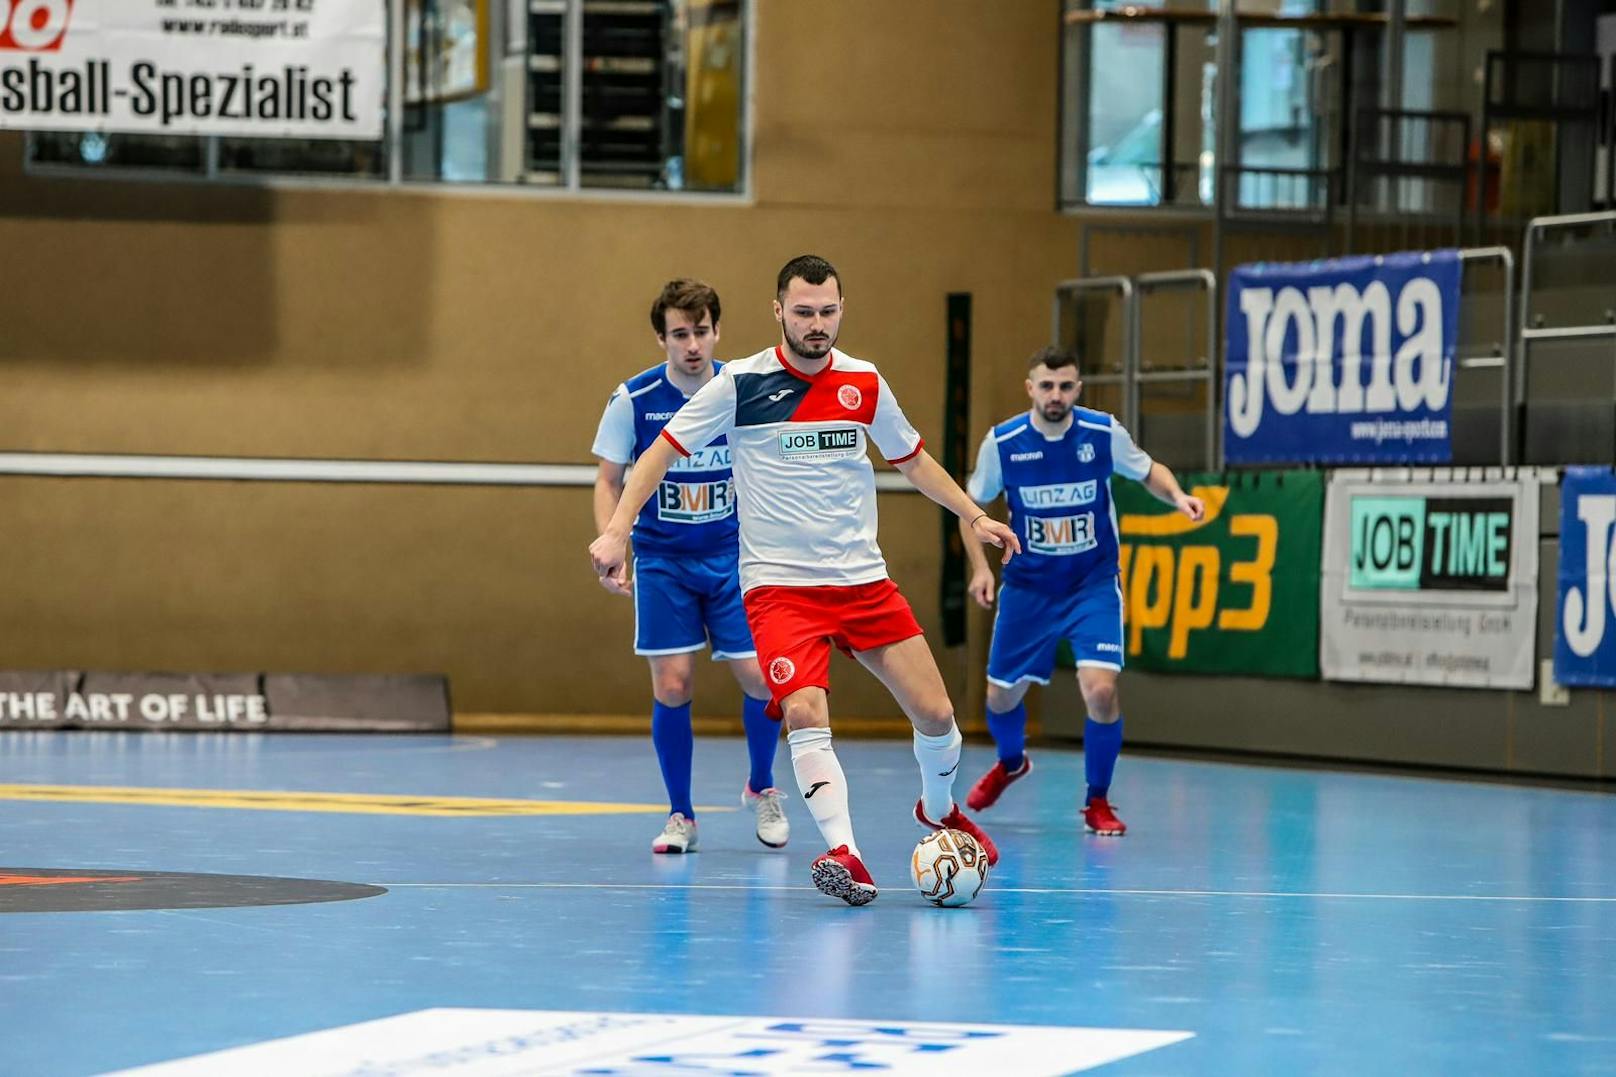
<svg viewBox="0 0 1616 1077"><path fill-rule="evenodd" d="M734 553L633 561L633 653L684 655L713 642L713 661L756 658Z"/></svg>

